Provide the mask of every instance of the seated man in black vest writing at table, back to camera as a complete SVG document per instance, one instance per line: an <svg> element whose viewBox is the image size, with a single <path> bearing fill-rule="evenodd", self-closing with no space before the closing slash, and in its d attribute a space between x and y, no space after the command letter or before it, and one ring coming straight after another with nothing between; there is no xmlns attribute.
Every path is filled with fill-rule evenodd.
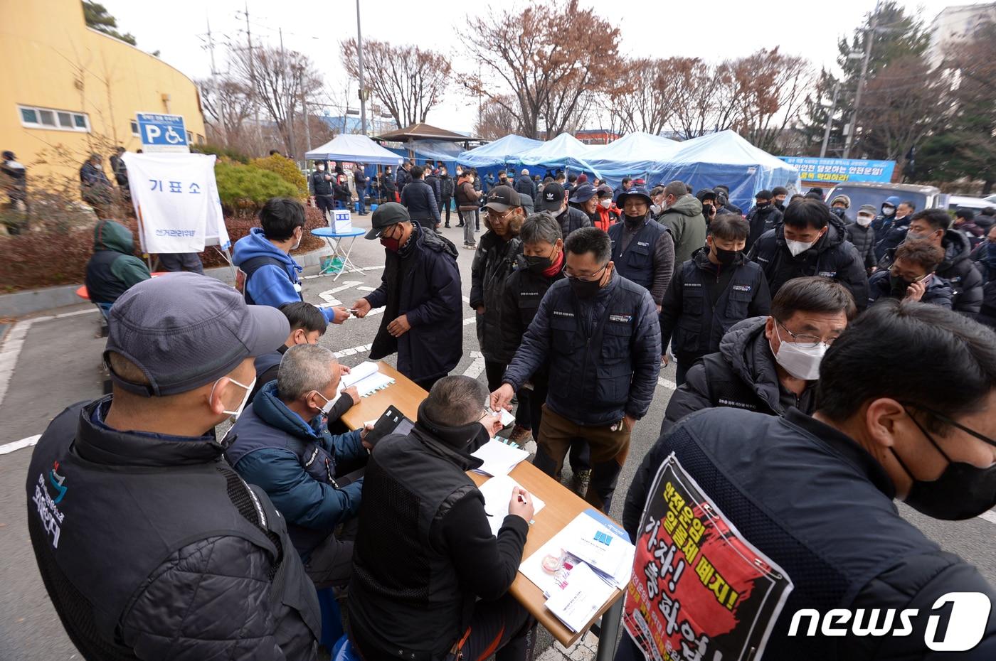
<svg viewBox="0 0 996 661"><path fill-rule="evenodd" d="M406 436L374 447L350 582L350 638L361 656L532 658L535 622L508 594L533 518L517 489L498 537L466 471L468 454L501 429L487 389L469 376L439 379ZM479 601L477 599L480 599Z"/></svg>

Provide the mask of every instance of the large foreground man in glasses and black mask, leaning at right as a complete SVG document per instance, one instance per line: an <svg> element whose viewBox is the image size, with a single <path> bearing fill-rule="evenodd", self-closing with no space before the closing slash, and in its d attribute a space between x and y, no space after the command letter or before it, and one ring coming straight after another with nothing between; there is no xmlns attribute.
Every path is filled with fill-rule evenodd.
<svg viewBox="0 0 996 661"><path fill-rule="evenodd" d="M659 494L650 489L658 467L674 453L710 505L793 581L772 616L765 658L996 658L996 590L893 503L942 520L996 505L996 333L937 306L882 302L827 351L817 399L813 417L721 408L685 418L644 458L623 527L636 531L647 498ZM969 600L964 592L981 594ZM974 607L942 598L951 593ZM704 616L691 603L682 601L684 616ZM835 635L826 623L836 608L855 619L853 628L837 620ZM827 615L820 633L808 635L802 618L789 635L801 609ZM900 611L908 618L901 634ZM885 635L856 635L870 613L894 613L896 621ZM960 636L956 624L964 625ZM942 641L948 646L935 646ZM632 658L628 652L621 648L617 659Z"/></svg>

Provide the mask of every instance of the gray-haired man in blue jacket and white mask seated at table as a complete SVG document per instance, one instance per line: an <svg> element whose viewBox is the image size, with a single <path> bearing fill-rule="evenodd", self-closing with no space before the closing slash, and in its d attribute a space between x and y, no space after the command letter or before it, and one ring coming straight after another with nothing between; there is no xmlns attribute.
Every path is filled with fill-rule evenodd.
<svg viewBox="0 0 996 661"><path fill-rule="evenodd" d="M228 433L228 463L270 497L318 587L349 582L355 518L368 458L367 429L333 436L326 416L342 367L317 344L287 349L277 380L263 386ZM351 471L356 471L351 474ZM337 526L347 524L338 536ZM352 524L352 525L351 525Z"/></svg>

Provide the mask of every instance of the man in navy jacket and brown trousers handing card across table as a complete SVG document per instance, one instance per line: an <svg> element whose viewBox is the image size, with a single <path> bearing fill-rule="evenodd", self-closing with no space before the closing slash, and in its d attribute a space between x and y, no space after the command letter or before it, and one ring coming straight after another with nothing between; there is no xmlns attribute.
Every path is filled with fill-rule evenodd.
<svg viewBox="0 0 996 661"><path fill-rule="evenodd" d="M582 228L565 248L566 280L543 297L491 405L508 408L515 391L549 362L558 387L547 394L535 464L555 476L572 442L587 440L592 478L585 499L608 512L629 434L657 384L660 328L650 294L616 273L608 234Z"/></svg>

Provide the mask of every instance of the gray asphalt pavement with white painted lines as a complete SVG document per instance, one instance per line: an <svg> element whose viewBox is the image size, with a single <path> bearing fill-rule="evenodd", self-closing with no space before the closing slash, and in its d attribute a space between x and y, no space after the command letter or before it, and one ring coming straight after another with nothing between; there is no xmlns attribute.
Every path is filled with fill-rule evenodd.
<svg viewBox="0 0 996 661"><path fill-rule="evenodd" d="M455 221L454 221L455 222ZM354 216L358 227L369 227L370 216ZM458 247L462 230L443 230ZM470 292L470 262L473 252L460 249L459 265L463 294ZM307 269L304 281L305 300L321 305L337 301L350 306L375 289L380 282L383 250L377 242L361 237L356 241L353 259L365 269L346 273L338 280L317 276L317 268ZM466 302L467 299L465 298ZM474 331L473 311L464 311L463 359L453 371L484 380L484 361L480 358ZM330 326L320 343L339 352L342 362L356 365L367 358L368 345L380 323L377 315L365 320L351 319L343 326ZM102 394L103 373L100 368L104 340L98 336L97 310L90 304L34 315L7 329L0 340L0 659L19 661L54 661L79 659L80 654L63 631L42 585L25 524L27 500L25 480L31 448L14 449L11 445L41 434L49 421L66 406ZM393 358L388 358L393 363ZM635 468L657 439L664 408L673 391L673 364L661 371L653 404L647 416L632 433L631 448L622 469L612 515L622 518L625 491ZM6 388L4 387L6 384ZM569 471L569 469L567 469ZM923 533L947 551L953 551L974 563L990 581L996 580L996 513L967 522L946 523L927 519L899 506L900 512ZM846 531L841 532L847 535ZM127 543L127 531L120 540ZM537 656L552 661L561 656L559 646L541 630ZM549 649L548 649L549 648ZM577 650L573 657L590 657L587 650Z"/></svg>

